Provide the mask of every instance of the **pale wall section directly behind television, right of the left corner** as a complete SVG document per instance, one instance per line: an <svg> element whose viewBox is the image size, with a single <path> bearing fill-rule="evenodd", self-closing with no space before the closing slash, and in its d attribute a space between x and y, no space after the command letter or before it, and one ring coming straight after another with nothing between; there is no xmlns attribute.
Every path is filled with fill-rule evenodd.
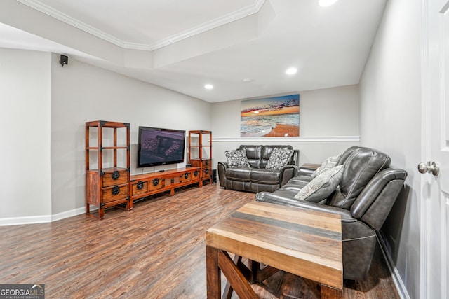
<svg viewBox="0 0 449 299"><path fill-rule="evenodd" d="M130 123L131 174L137 169L138 127L210 130L210 104L76 60L52 57L52 213L84 206L86 121ZM187 151L186 151L187 153ZM182 165L170 165L177 167ZM168 166L163 167L169 168ZM143 169L152 172L153 168Z"/></svg>

